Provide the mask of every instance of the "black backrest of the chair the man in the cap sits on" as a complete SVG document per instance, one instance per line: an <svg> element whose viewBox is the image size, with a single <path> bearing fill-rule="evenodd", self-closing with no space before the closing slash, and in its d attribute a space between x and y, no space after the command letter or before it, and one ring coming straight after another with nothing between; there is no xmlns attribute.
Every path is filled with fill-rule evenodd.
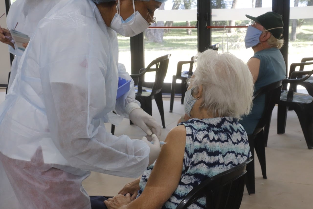
<svg viewBox="0 0 313 209"><path fill-rule="evenodd" d="M254 129L253 134L258 134L266 124L268 124L270 117L272 115L272 111L276 102L280 99L280 93L282 88L282 81L277 81L275 83L271 83L267 86L260 88L257 92L254 93L254 99L259 96L265 94L265 106L262 117L259 120L258 125Z"/></svg>

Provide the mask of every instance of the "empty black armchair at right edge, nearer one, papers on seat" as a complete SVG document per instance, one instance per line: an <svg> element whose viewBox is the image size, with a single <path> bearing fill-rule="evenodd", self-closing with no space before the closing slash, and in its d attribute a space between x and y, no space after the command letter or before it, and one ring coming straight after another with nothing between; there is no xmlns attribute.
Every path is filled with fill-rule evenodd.
<svg viewBox="0 0 313 209"><path fill-rule="evenodd" d="M311 62L292 63L290 68L296 66L310 65ZM312 71L294 71L289 79L283 80L283 84L290 83L289 90L283 90L278 101L277 111L277 133L285 133L287 110L295 110L300 126L305 138L306 145L309 149L313 148L313 85L305 80L310 79ZM306 75L305 77L303 77ZM300 78L299 78L300 77ZM309 94L297 93L295 87L304 86Z"/></svg>

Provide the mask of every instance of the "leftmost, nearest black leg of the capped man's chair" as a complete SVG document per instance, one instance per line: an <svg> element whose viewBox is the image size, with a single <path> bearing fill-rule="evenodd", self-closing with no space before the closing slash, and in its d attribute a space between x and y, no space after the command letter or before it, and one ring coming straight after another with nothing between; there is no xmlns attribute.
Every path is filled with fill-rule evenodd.
<svg viewBox="0 0 313 209"><path fill-rule="evenodd" d="M246 167L247 174L245 179L245 184L248 190L249 195L255 193L255 182L254 182L254 138L249 138L249 146L251 151L252 161Z"/></svg>

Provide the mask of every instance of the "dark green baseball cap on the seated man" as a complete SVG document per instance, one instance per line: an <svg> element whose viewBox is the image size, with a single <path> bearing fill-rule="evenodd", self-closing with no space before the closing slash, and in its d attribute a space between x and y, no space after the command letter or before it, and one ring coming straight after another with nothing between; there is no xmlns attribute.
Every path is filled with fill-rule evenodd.
<svg viewBox="0 0 313 209"><path fill-rule="evenodd" d="M280 14L277 14L275 12L267 12L267 13L261 14L258 17L252 17L246 14L246 17L259 23L266 30L269 30L269 32L275 38L281 39L283 37L284 23L283 23L283 18Z"/></svg>

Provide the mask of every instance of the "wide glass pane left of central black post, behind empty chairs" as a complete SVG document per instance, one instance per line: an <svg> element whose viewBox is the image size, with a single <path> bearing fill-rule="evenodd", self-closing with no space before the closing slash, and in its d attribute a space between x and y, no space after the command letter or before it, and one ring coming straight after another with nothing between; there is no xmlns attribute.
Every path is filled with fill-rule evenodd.
<svg viewBox="0 0 313 209"><path fill-rule="evenodd" d="M173 2L167 1L161 5L161 8L155 11L154 16L157 22L145 31L145 66L157 57L172 54L168 64L167 75L164 79L165 83L172 83L172 76L176 75L178 61L190 60L198 51L197 29L195 29L197 1ZM189 67L187 68L189 69ZM150 74L145 76L147 82L154 81L155 74ZM180 80L177 80L177 83L179 82Z"/></svg>

